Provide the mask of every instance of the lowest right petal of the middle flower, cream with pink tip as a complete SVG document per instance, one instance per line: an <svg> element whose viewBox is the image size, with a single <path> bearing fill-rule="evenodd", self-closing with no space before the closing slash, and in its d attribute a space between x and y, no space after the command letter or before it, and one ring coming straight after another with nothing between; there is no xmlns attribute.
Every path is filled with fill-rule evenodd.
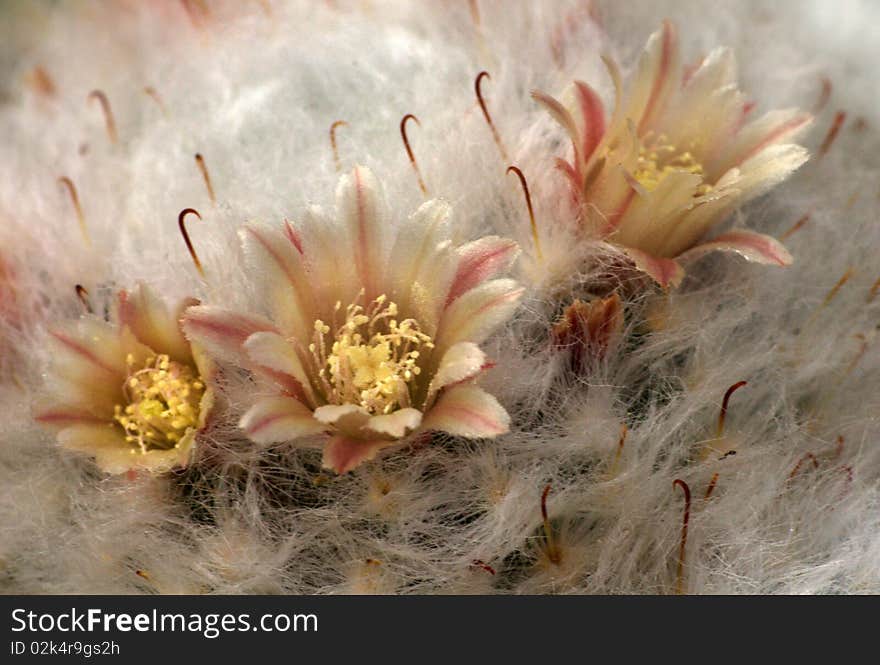
<svg viewBox="0 0 880 665"><path fill-rule="evenodd" d="M493 438L510 428L510 416L498 400L474 385L445 390L425 415L422 429L468 439Z"/></svg>

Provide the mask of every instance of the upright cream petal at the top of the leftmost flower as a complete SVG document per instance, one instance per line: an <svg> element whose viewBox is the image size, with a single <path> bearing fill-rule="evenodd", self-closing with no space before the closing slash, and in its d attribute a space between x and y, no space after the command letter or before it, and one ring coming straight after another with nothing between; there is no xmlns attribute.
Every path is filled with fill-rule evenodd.
<svg viewBox="0 0 880 665"><path fill-rule="evenodd" d="M165 353L172 360L191 363L189 344L180 329L180 318L186 308L198 304L192 298L184 300L174 311L146 284L138 284L134 291L119 293L119 323L157 353Z"/></svg>

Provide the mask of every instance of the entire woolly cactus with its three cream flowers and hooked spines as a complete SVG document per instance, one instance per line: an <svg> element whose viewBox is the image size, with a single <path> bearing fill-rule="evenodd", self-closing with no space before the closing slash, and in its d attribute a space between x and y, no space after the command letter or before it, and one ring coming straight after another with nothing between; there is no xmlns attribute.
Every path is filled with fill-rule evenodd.
<svg viewBox="0 0 880 665"><path fill-rule="evenodd" d="M2 589L880 591L877 10L714 11L4 8Z"/></svg>

